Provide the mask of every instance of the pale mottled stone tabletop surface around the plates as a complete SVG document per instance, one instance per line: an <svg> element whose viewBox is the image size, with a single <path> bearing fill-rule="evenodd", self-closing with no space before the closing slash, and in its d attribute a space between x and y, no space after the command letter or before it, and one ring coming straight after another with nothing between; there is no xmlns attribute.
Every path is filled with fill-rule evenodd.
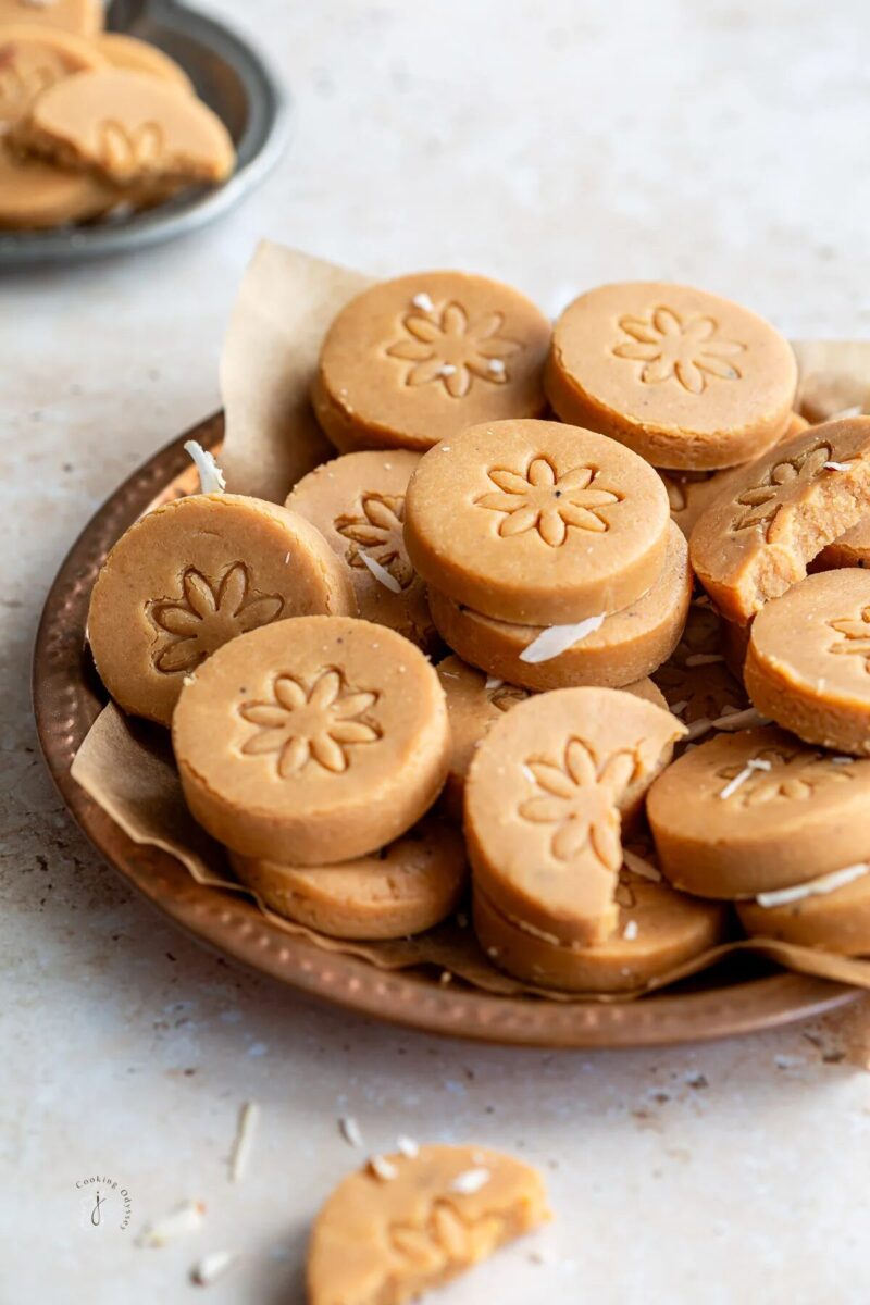
<svg viewBox="0 0 870 1305"><path fill-rule="evenodd" d="M37 754L27 663L69 543L217 406L261 235L370 273L459 265L547 308L608 278L698 282L793 335L870 333L870 10L861 0L223 0L297 99L277 174L215 228L0 282L0 1302L293 1305L307 1227L400 1131L543 1167L556 1221L441 1297L865 1305L870 1014L719 1045L510 1052L309 1005L164 925L97 863ZM262 1104L249 1176L236 1113ZM130 1231L82 1223L115 1177ZM142 1224L185 1197L203 1229ZM90 1206L83 1208L86 1220ZM543 1261L533 1262L532 1248Z"/></svg>

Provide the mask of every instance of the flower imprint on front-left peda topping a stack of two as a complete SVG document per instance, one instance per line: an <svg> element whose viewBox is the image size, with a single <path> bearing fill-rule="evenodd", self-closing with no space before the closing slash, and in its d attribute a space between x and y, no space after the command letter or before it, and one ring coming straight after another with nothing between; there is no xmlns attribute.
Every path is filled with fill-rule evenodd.
<svg viewBox="0 0 870 1305"><path fill-rule="evenodd" d="M290 779L313 766L340 775L351 765L352 749L377 743L382 729L367 714L378 694L348 688L340 671L321 671L310 685L292 675L277 675L270 702L244 702L239 714L258 726L241 746L247 757L275 753L278 774Z"/></svg>

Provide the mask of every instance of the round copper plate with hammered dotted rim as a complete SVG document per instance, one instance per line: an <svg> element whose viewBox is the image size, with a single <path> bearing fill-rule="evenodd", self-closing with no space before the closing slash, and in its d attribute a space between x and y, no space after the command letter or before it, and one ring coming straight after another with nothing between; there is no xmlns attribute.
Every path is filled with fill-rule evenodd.
<svg viewBox="0 0 870 1305"><path fill-rule="evenodd" d="M200 886L173 857L127 838L69 774L104 702L85 650L87 602L119 535L155 499L196 487L184 440L214 448L222 433L222 416L209 418L111 496L60 568L37 636L34 706L48 769L73 818L128 883L187 933L252 970L361 1014L479 1041L527 1047L695 1041L805 1019L860 996L853 988L766 970L751 960L620 1005L501 997L460 983L445 988L430 971L385 972L355 957L322 951L275 928L244 898Z"/></svg>

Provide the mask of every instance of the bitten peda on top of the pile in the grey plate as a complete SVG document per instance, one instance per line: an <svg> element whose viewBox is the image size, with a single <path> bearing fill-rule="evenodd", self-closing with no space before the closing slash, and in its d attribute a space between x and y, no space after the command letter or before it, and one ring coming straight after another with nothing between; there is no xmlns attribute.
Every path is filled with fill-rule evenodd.
<svg viewBox="0 0 870 1305"><path fill-rule="evenodd" d="M181 87L127 68L67 77L39 97L21 134L55 162L119 184L223 181L235 164L217 114Z"/></svg>

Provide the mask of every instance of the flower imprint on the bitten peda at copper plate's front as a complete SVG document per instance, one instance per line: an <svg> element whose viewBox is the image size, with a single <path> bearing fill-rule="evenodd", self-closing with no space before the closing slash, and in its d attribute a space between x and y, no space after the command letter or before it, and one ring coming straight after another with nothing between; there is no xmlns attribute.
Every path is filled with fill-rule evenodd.
<svg viewBox="0 0 870 1305"><path fill-rule="evenodd" d="M622 864L616 796L631 780L638 760L616 752L604 761L582 739L570 737L560 761L531 757L524 770L537 792L519 805L523 820L549 826L557 861L571 861L584 851L610 870Z"/></svg>

